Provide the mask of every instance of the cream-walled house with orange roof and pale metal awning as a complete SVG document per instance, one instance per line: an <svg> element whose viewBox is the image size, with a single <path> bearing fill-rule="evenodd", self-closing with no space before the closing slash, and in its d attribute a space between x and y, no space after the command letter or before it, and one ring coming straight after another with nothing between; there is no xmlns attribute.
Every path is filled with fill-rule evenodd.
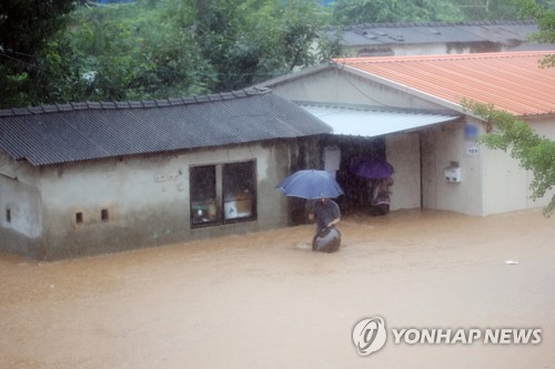
<svg viewBox="0 0 555 369"><path fill-rule="evenodd" d="M324 151L345 189L345 207L363 204L364 181L351 171L361 156L395 168L391 209L431 208L475 216L539 207L532 173L503 151L481 145L495 126L463 106L493 104L555 140L553 51L343 58L266 81L333 127ZM325 155L324 155L325 158Z"/></svg>

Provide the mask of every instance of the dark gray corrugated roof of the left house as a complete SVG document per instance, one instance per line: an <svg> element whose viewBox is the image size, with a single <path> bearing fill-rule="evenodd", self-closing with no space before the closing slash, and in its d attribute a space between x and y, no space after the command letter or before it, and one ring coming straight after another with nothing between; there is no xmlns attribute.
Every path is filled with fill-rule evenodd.
<svg viewBox="0 0 555 369"><path fill-rule="evenodd" d="M0 147L47 165L331 133L268 89L0 111Z"/></svg>

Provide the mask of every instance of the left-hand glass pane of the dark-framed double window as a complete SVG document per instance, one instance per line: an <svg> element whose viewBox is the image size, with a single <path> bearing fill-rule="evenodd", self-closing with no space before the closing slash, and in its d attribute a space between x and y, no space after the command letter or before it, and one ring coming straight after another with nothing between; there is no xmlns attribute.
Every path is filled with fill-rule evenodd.
<svg viewBox="0 0 555 369"><path fill-rule="evenodd" d="M218 221L215 206L215 166L195 166L189 172L191 222L202 225Z"/></svg>

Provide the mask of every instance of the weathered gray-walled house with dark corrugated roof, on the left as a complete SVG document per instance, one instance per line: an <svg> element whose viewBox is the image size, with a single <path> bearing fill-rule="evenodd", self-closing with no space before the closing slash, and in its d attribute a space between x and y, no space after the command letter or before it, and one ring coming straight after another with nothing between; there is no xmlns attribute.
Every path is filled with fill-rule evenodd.
<svg viewBox="0 0 555 369"><path fill-rule="evenodd" d="M0 111L1 248L60 259L289 224L331 127L268 89Z"/></svg>

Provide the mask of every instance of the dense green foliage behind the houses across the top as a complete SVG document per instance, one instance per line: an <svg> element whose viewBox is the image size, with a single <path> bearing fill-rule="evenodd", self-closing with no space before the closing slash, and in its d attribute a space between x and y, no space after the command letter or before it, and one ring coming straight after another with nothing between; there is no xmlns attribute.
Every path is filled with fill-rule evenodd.
<svg viewBox="0 0 555 369"><path fill-rule="evenodd" d="M516 19L523 8L553 42L553 11L541 6L554 1L1 1L0 107L241 89L340 55L319 38L330 24Z"/></svg>

